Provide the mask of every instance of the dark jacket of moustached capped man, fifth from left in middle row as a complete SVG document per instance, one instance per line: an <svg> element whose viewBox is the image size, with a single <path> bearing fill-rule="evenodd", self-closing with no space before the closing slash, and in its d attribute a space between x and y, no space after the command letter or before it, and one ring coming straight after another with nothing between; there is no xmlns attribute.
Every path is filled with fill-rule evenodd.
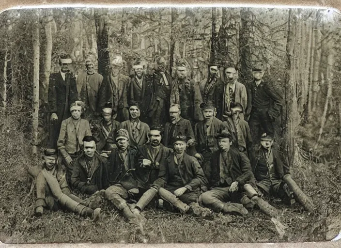
<svg viewBox="0 0 341 248"><path fill-rule="evenodd" d="M220 133L225 127L222 121L218 120L216 117L213 117L212 121L212 137L207 140L207 126L205 121L201 121L195 124L195 140L197 141L197 152L202 153L204 149L208 149L209 147L218 148L218 141L216 139L217 133Z"/></svg>

